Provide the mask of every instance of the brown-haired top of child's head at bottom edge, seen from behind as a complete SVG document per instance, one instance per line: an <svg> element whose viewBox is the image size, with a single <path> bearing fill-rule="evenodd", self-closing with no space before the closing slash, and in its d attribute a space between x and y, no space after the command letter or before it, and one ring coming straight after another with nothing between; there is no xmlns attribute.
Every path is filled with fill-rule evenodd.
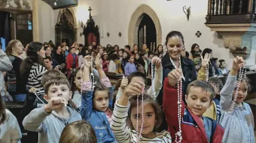
<svg viewBox="0 0 256 143"><path fill-rule="evenodd" d="M59 138L59 143L96 143L93 127L85 120L75 121L66 126Z"/></svg>

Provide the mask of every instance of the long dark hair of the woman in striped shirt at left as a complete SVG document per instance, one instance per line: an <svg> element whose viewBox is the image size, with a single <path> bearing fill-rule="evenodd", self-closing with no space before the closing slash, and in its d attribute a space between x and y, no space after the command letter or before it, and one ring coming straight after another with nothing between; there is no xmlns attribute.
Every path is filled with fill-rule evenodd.
<svg viewBox="0 0 256 143"><path fill-rule="evenodd" d="M20 65L20 77L22 78L22 81L28 81L30 69L33 64L44 66L43 58L38 55L38 51L41 50L42 47L43 44L37 41L29 44L29 47L26 50L27 58L24 59Z"/></svg>

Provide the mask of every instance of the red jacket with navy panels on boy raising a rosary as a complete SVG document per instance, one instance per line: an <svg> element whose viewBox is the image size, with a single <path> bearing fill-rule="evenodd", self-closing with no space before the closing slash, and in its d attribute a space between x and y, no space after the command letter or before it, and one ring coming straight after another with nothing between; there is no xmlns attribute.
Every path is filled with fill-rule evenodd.
<svg viewBox="0 0 256 143"><path fill-rule="evenodd" d="M166 115L166 122L168 124L168 131L172 135L172 142L175 142L175 133L178 132L178 90L171 87L166 78L163 84L163 112ZM206 128L200 117L189 111L182 101L181 108L181 135L182 143L195 142L212 142L221 143L224 129L215 120L204 118L206 120L209 130L212 132L210 141L206 135Z"/></svg>

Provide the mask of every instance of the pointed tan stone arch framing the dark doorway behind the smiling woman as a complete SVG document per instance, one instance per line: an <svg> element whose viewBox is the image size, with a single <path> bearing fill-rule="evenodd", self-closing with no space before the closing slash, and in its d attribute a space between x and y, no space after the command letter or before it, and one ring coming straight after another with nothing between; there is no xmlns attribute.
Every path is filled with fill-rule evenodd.
<svg viewBox="0 0 256 143"><path fill-rule="evenodd" d="M148 5L142 4L138 8L136 8L136 11L133 12L133 15L130 19L128 29L128 43L131 46L138 43L139 23L142 22L142 18L145 16L145 14L148 14L148 16L151 17L156 27L157 45L162 44L162 29L160 25L160 20L158 19L157 14L152 8L150 8Z"/></svg>

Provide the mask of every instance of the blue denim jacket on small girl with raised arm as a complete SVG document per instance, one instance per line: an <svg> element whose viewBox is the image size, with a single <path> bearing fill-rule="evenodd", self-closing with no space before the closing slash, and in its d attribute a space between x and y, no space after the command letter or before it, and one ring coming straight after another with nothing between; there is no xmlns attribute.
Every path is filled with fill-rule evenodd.
<svg viewBox="0 0 256 143"><path fill-rule="evenodd" d="M114 87L109 87L108 91L112 95ZM113 99L109 98L109 106L113 105ZM93 91L84 91L82 93L81 117L87 120L93 126L96 133L97 142L115 142L114 133L110 128L110 123L104 112L96 111L93 108Z"/></svg>

